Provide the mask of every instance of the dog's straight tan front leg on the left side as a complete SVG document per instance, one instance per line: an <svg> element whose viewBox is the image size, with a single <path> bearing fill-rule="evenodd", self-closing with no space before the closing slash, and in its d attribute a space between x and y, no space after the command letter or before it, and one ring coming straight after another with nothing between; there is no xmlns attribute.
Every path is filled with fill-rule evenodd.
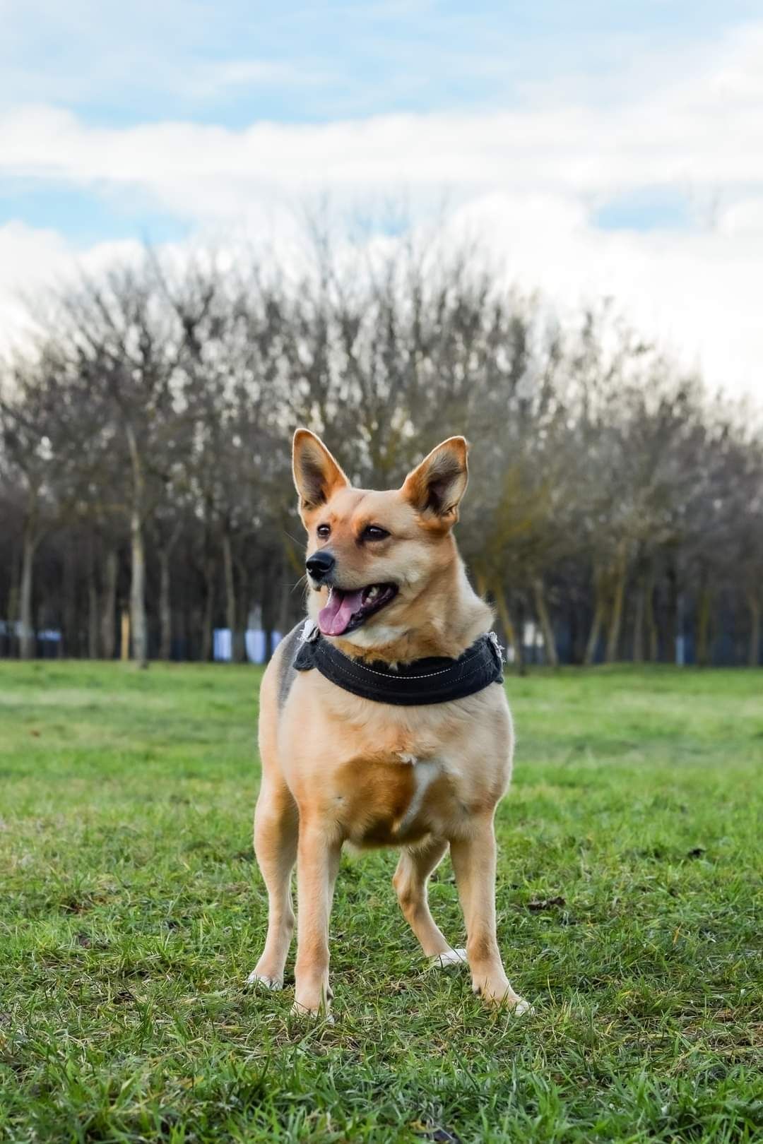
<svg viewBox="0 0 763 1144"><path fill-rule="evenodd" d="M328 919L341 851L323 823L300 821L295 1012L328 1012Z"/></svg>

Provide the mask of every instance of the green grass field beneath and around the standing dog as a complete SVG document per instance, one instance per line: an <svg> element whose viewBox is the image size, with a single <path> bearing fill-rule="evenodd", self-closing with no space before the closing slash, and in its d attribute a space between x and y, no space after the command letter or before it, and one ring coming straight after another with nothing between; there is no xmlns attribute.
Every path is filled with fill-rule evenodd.
<svg viewBox="0 0 763 1144"><path fill-rule="evenodd" d="M0 664L0 1138L763 1139L763 673L509 678L499 936L535 1014L427 971L382 851L342 863L334 1026L288 970L244 987L257 683ZM456 943L447 861L431 899Z"/></svg>

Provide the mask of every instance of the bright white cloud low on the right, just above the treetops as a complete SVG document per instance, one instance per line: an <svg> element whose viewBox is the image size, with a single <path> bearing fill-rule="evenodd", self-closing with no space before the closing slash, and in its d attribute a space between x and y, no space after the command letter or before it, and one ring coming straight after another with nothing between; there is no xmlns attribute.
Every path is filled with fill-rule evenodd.
<svg viewBox="0 0 763 1144"><path fill-rule="evenodd" d="M763 231L599 231L565 199L486 196L455 212L456 236L490 243L507 278L539 287L570 316L602 296L713 387L763 403Z"/></svg>

